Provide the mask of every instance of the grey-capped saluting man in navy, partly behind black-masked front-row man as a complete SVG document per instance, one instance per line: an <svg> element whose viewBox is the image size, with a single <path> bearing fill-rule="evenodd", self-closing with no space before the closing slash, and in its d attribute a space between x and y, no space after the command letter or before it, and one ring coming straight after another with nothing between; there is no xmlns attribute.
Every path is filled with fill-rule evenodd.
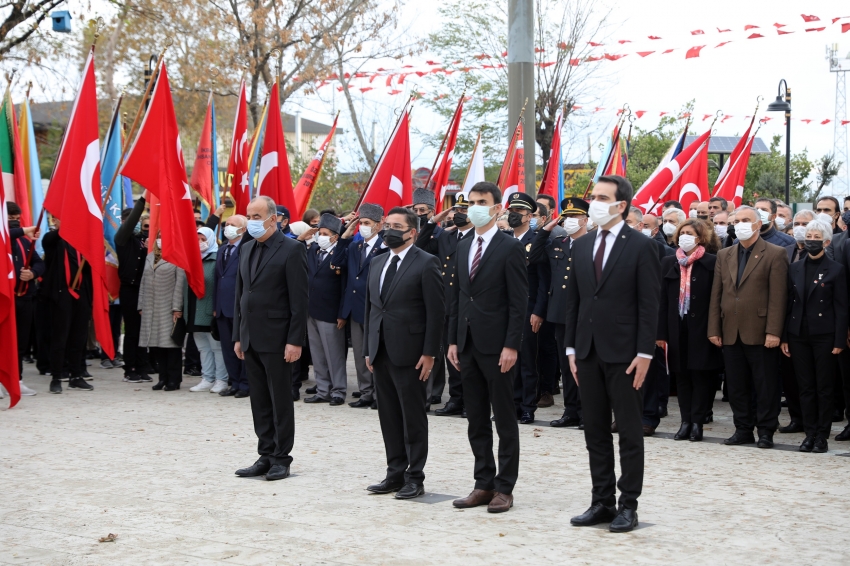
<svg viewBox="0 0 850 566"><path fill-rule="evenodd" d="M339 314L341 318L348 320L351 348L354 350L354 366L357 368L357 386L360 390L360 399L349 403L348 406L377 409L374 378L363 357L363 315L366 311L369 266L376 256L386 253L389 248L384 245L384 239L379 233L384 222L384 209L377 204L364 202L360 205L357 214L358 221L348 224L342 238L350 239L351 233L359 226L363 239L358 242L352 241L342 257L334 260L335 267L344 267L347 272L345 294Z"/></svg>

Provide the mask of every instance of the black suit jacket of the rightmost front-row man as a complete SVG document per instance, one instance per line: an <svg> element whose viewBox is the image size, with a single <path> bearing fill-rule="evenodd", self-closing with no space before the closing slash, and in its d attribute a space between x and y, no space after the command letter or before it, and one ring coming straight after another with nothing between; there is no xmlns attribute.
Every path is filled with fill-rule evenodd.
<svg viewBox="0 0 850 566"><path fill-rule="evenodd" d="M564 345L578 359L591 346L608 363L629 363L638 353L655 352L661 264L658 244L623 224L596 281L596 232L573 242L576 273L567 283Z"/></svg>

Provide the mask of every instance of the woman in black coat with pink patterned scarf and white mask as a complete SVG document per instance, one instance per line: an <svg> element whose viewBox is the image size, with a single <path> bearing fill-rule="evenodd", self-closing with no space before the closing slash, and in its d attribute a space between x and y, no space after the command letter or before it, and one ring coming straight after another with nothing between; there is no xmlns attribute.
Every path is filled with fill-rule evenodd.
<svg viewBox="0 0 850 566"><path fill-rule="evenodd" d="M658 345L667 345L667 366L676 378L682 424L674 440L702 440L711 411L720 348L708 341L708 305L717 256L706 251L714 234L698 219L682 222L674 234L675 256L661 261Z"/></svg>

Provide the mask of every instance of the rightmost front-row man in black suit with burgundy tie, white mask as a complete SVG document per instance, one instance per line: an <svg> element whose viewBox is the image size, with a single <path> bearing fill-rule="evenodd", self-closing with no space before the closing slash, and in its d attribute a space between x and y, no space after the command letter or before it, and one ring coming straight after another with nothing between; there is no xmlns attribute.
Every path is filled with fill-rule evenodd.
<svg viewBox="0 0 850 566"><path fill-rule="evenodd" d="M641 385L655 351L661 267L658 245L629 228L633 189L603 176L593 187L590 219L599 226L573 246L575 276L567 282L564 342L581 385L584 438L593 481L591 507L575 526L610 522L612 532L638 525L643 486ZM611 411L620 432L620 509L616 501Z"/></svg>

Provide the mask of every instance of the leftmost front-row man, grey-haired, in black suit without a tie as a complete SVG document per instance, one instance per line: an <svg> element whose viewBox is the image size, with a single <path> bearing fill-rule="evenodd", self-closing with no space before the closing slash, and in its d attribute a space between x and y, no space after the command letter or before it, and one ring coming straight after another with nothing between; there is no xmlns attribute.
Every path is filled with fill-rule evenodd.
<svg viewBox="0 0 850 566"><path fill-rule="evenodd" d="M248 204L248 233L239 254L233 350L245 360L260 458L236 471L242 477L289 476L295 415L290 378L301 357L307 326L307 255L277 230L275 204L266 196Z"/></svg>

